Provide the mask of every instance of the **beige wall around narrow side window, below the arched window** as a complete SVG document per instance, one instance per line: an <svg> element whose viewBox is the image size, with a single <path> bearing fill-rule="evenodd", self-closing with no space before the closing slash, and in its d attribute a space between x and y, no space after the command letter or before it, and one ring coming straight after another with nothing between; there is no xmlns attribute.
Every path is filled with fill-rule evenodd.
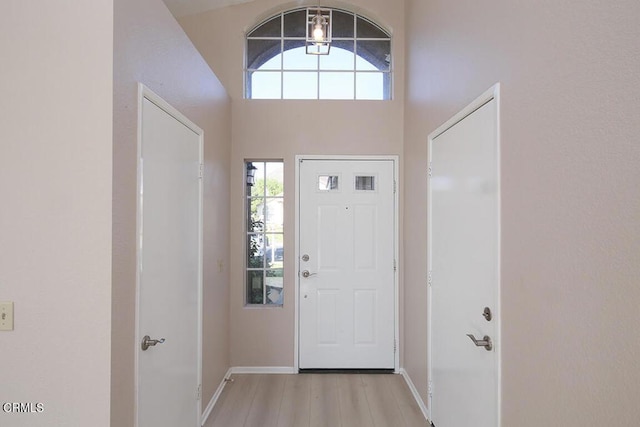
<svg viewBox="0 0 640 427"><path fill-rule="evenodd" d="M281 309L243 307L244 246L231 239L231 363L233 366L293 366L296 154L401 154L402 111L381 102L234 101L232 147L231 233L242 236L243 160L277 158L285 162L285 299ZM304 111L304 112L303 112ZM300 126L307 117L329 116L333 138L311 135ZM370 117L385 117L372 122ZM247 122L248 118L250 120ZM286 118L286 119L285 119ZM250 123L250 125L248 125ZM280 124L280 125L275 125Z"/></svg>

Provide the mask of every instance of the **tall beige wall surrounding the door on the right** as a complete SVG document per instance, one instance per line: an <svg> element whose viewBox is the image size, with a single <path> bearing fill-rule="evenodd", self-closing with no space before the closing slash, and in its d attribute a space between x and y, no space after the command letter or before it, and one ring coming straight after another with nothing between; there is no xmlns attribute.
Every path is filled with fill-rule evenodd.
<svg viewBox="0 0 640 427"><path fill-rule="evenodd" d="M405 252L426 256L427 135L501 82L503 425L637 425L640 3L406 12ZM405 273L405 367L426 397L425 264Z"/></svg>

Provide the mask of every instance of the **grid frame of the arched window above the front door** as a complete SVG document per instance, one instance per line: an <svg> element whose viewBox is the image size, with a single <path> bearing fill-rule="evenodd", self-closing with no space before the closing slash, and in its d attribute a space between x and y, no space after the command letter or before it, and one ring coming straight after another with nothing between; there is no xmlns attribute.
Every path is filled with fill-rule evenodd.
<svg viewBox="0 0 640 427"><path fill-rule="evenodd" d="M245 34L245 40L244 40L244 48L245 48L245 52L244 52L244 66L243 66L243 96L244 99L271 99L271 100L298 100L298 99L311 99L311 100L371 100L371 98L366 98L366 97L362 97L359 98L358 97L358 77L363 77L366 74L370 74L370 75L381 75L382 76L382 98L376 98L375 100L380 100L380 101L389 101L392 100L394 98L394 85L393 85L393 38L391 36L391 32L386 30L385 28L383 28L381 25L377 24L376 22L374 22L373 20L367 18L366 16L360 15L356 12L352 12L349 10L345 10L345 9L340 9L340 8L330 8L332 9L332 11L334 13L343 13L343 14L348 14L351 15L353 17L353 35L351 37L337 37L337 36L333 36L332 37L332 49L342 49L345 50L347 52L350 52L351 54L353 54L354 57L354 61L353 61L353 67L352 68L345 68L345 69L322 69L321 67L321 57L322 55L317 55L315 56L316 59L316 66L313 69L290 69L290 68L285 68L285 54L287 51L293 50L294 48L289 48L287 50L285 50L286 44L287 42L302 42L302 47L304 48L304 41L305 41L305 37L304 36L285 36L285 17L288 14L292 14L292 13L296 13L296 12L301 12L301 11L305 11L306 7L297 7L294 9L288 9L282 12L279 12L277 14L271 15L268 18L264 19L263 21L261 21L260 23L258 23L257 25L255 25L254 27L252 27L251 29L249 29L246 34ZM269 22L278 19L279 20L279 26L280 26L280 35L279 36L252 36L253 33L255 33L256 31L260 30L261 28L263 28L263 26L265 26L266 24L268 24ZM384 34L385 37L359 37L358 36L358 25L360 24L360 21L362 21L362 23L367 24L369 26L372 26L376 31L379 31L381 34ZM275 26L273 26L273 28L275 28ZM334 31L335 32L335 31ZM267 54L267 56L265 57L266 59L263 59L261 64L256 66L252 66L253 64L249 64L249 44L250 44L250 40L262 40L262 41L279 41L279 51L277 53L275 53L272 56L269 56ZM340 42L353 42L353 48L352 50L349 49L344 49L342 47L337 47L334 45L340 44ZM388 57L385 58L384 62L387 64L386 69L382 69L379 65L374 64L373 62L371 62L369 59L372 58L371 55L369 55L369 59L367 58L367 56L362 56L358 54L358 43L359 42L388 42L389 43L389 54L387 55ZM265 51L263 53L260 53L259 55L256 55L256 59L259 58L260 56L264 55L265 52L268 51L269 48L265 48ZM262 65L264 65L265 63L267 63L268 61L270 61L273 58L278 57L278 55L280 55L280 64L278 68L271 68L271 69L260 69L260 67ZM365 69L358 69L358 58L366 61L367 63L371 64L375 69L373 70L365 70ZM253 61L254 63L256 62L256 60ZM380 61L382 62L382 61ZM252 96L252 76L255 72L259 72L263 75L268 75L268 74L278 74L279 75L279 82L280 82L280 94L279 97L265 97L265 98L253 98ZM285 73L314 73L315 76L315 83L316 83L316 88L315 88L315 97L314 98L291 98L291 97L285 97ZM352 91L352 96L351 97L344 97L344 98L324 98L321 97L321 84L320 82L322 81L322 76L327 76L329 74L338 74L338 73L351 73L353 75L353 91Z"/></svg>

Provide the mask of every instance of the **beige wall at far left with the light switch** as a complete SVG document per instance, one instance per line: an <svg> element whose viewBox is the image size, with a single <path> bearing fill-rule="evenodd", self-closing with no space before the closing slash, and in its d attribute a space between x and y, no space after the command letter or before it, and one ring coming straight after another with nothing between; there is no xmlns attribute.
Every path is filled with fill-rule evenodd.
<svg viewBox="0 0 640 427"><path fill-rule="evenodd" d="M109 425L112 43L111 0L0 6L0 402L44 409L2 426Z"/></svg>

